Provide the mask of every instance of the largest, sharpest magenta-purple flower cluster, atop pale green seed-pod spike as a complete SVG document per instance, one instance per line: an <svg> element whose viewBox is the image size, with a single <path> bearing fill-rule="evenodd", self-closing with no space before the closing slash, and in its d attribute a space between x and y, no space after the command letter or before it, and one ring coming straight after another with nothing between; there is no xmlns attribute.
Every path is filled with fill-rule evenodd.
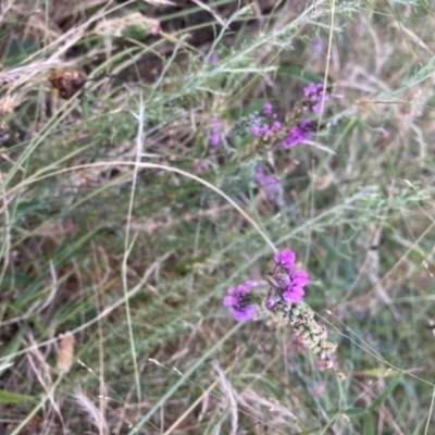
<svg viewBox="0 0 435 435"><path fill-rule="evenodd" d="M303 287L309 283L308 273L297 271L295 268L296 256L289 249L275 254L275 268L268 273L268 281L248 279L237 286L229 287L228 295L224 297L224 306L229 309L237 321L251 318L256 312L256 299L250 294L252 288L270 286L265 299L265 307L272 309L277 302L287 307L298 303L304 295Z"/></svg>

